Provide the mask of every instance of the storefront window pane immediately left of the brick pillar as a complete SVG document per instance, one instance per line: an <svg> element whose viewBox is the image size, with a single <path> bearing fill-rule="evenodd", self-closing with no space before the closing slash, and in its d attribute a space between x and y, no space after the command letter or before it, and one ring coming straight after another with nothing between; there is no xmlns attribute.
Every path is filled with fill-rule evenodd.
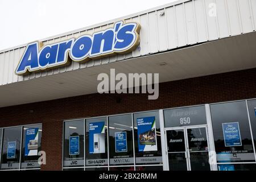
<svg viewBox="0 0 256 182"><path fill-rule="evenodd" d="M38 163L41 151L42 125L23 127L21 168L40 168Z"/></svg>

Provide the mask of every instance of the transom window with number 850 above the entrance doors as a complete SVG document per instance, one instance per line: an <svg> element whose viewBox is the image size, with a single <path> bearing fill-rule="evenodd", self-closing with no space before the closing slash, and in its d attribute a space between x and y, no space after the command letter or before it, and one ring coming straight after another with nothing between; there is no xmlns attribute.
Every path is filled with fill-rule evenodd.
<svg viewBox="0 0 256 182"><path fill-rule="evenodd" d="M182 107L164 110L165 127L207 124L205 106Z"/></svg>

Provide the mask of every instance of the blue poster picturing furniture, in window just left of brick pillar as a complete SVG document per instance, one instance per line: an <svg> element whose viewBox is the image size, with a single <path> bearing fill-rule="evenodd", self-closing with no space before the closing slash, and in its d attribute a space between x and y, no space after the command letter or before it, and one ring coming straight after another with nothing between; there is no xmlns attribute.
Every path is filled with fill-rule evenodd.
<svg viewBox="0 0 256 182"><path fill-rule="evenodd" d="M27 129L25 132L25 156L38 155L38 128Z"/></svg>

